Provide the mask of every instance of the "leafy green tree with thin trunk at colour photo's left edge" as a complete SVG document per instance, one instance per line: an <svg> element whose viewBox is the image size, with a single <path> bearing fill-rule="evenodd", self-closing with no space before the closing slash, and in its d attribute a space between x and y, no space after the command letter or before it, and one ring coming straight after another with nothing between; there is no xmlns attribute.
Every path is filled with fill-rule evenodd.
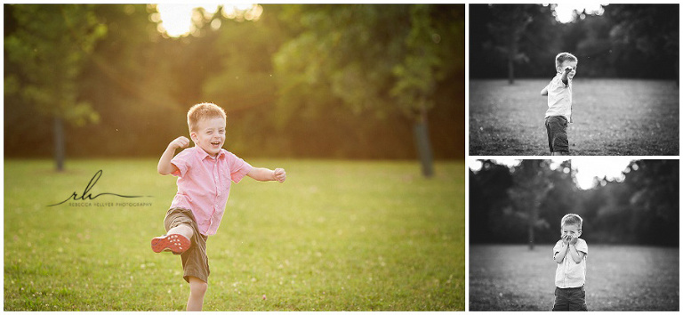
<svg viewBox="0 0 683 315"><path fill-rule="evenodd" d="M64 124L100 119L81 99L78 79L96 42L107 33L92 4L5 5L4 87L8 106L33 106L53 120L54 158L64 168Z"/></svg>

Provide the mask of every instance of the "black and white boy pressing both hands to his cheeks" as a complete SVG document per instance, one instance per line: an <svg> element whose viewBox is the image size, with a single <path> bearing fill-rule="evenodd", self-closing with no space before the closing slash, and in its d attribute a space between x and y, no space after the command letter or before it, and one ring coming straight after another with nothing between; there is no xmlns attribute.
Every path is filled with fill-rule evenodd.
<svg viewBox="0 0 683 315"><path fill-rule="evenodd" d="M566 214L560 225L562 239L552 248L552 258L558 263L552 311L588 311L584 287L588 245L579 238L583 219L578 214Z"/></svg>

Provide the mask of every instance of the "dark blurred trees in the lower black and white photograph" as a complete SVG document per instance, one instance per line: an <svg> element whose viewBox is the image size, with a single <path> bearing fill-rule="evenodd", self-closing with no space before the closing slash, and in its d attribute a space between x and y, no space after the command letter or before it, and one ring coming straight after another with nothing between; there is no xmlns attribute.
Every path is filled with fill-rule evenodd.
<svg viewBox="0 0 683 315"><path fill-rule="evenodd" d="M473 244L554 244L562 216L575 213L589 244L679 246L679 160L632 161L623 181L595 178L590 190L576 187L570 161L481 162L470 169Z"/></svg>

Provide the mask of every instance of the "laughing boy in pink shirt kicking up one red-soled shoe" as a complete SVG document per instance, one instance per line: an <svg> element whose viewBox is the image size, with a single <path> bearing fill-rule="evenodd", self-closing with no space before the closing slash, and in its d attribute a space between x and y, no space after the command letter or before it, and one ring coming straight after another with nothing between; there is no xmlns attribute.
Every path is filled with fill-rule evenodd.
<svg viewBox="0 0 683 315"><path fill-rule="evenodd" d="M208 288L209 261L206 240L221 224L230 192L230 182L246 175L254 180L285 182L282 168L274 171L250 166L226 149L225 111L212 103L201 103L188 111L189 136L195 142L175 158L176 149L186 148L189 140L171 141L159 159L157 172L178 178L178 192L166 213L166 235L153 238L152 250L180 254L183 278L189 283L188 311L202 311Z"/></svg>

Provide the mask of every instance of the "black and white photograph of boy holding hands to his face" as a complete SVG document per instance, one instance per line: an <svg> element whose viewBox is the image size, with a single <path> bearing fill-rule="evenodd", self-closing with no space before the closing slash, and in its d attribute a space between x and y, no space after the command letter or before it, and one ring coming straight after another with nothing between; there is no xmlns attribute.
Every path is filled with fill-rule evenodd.
<svg viewBox="0 0 683 315"><path fill-rule="evenodd" d="M679 311L679 160L478 159L470 311Z"/></svg>

